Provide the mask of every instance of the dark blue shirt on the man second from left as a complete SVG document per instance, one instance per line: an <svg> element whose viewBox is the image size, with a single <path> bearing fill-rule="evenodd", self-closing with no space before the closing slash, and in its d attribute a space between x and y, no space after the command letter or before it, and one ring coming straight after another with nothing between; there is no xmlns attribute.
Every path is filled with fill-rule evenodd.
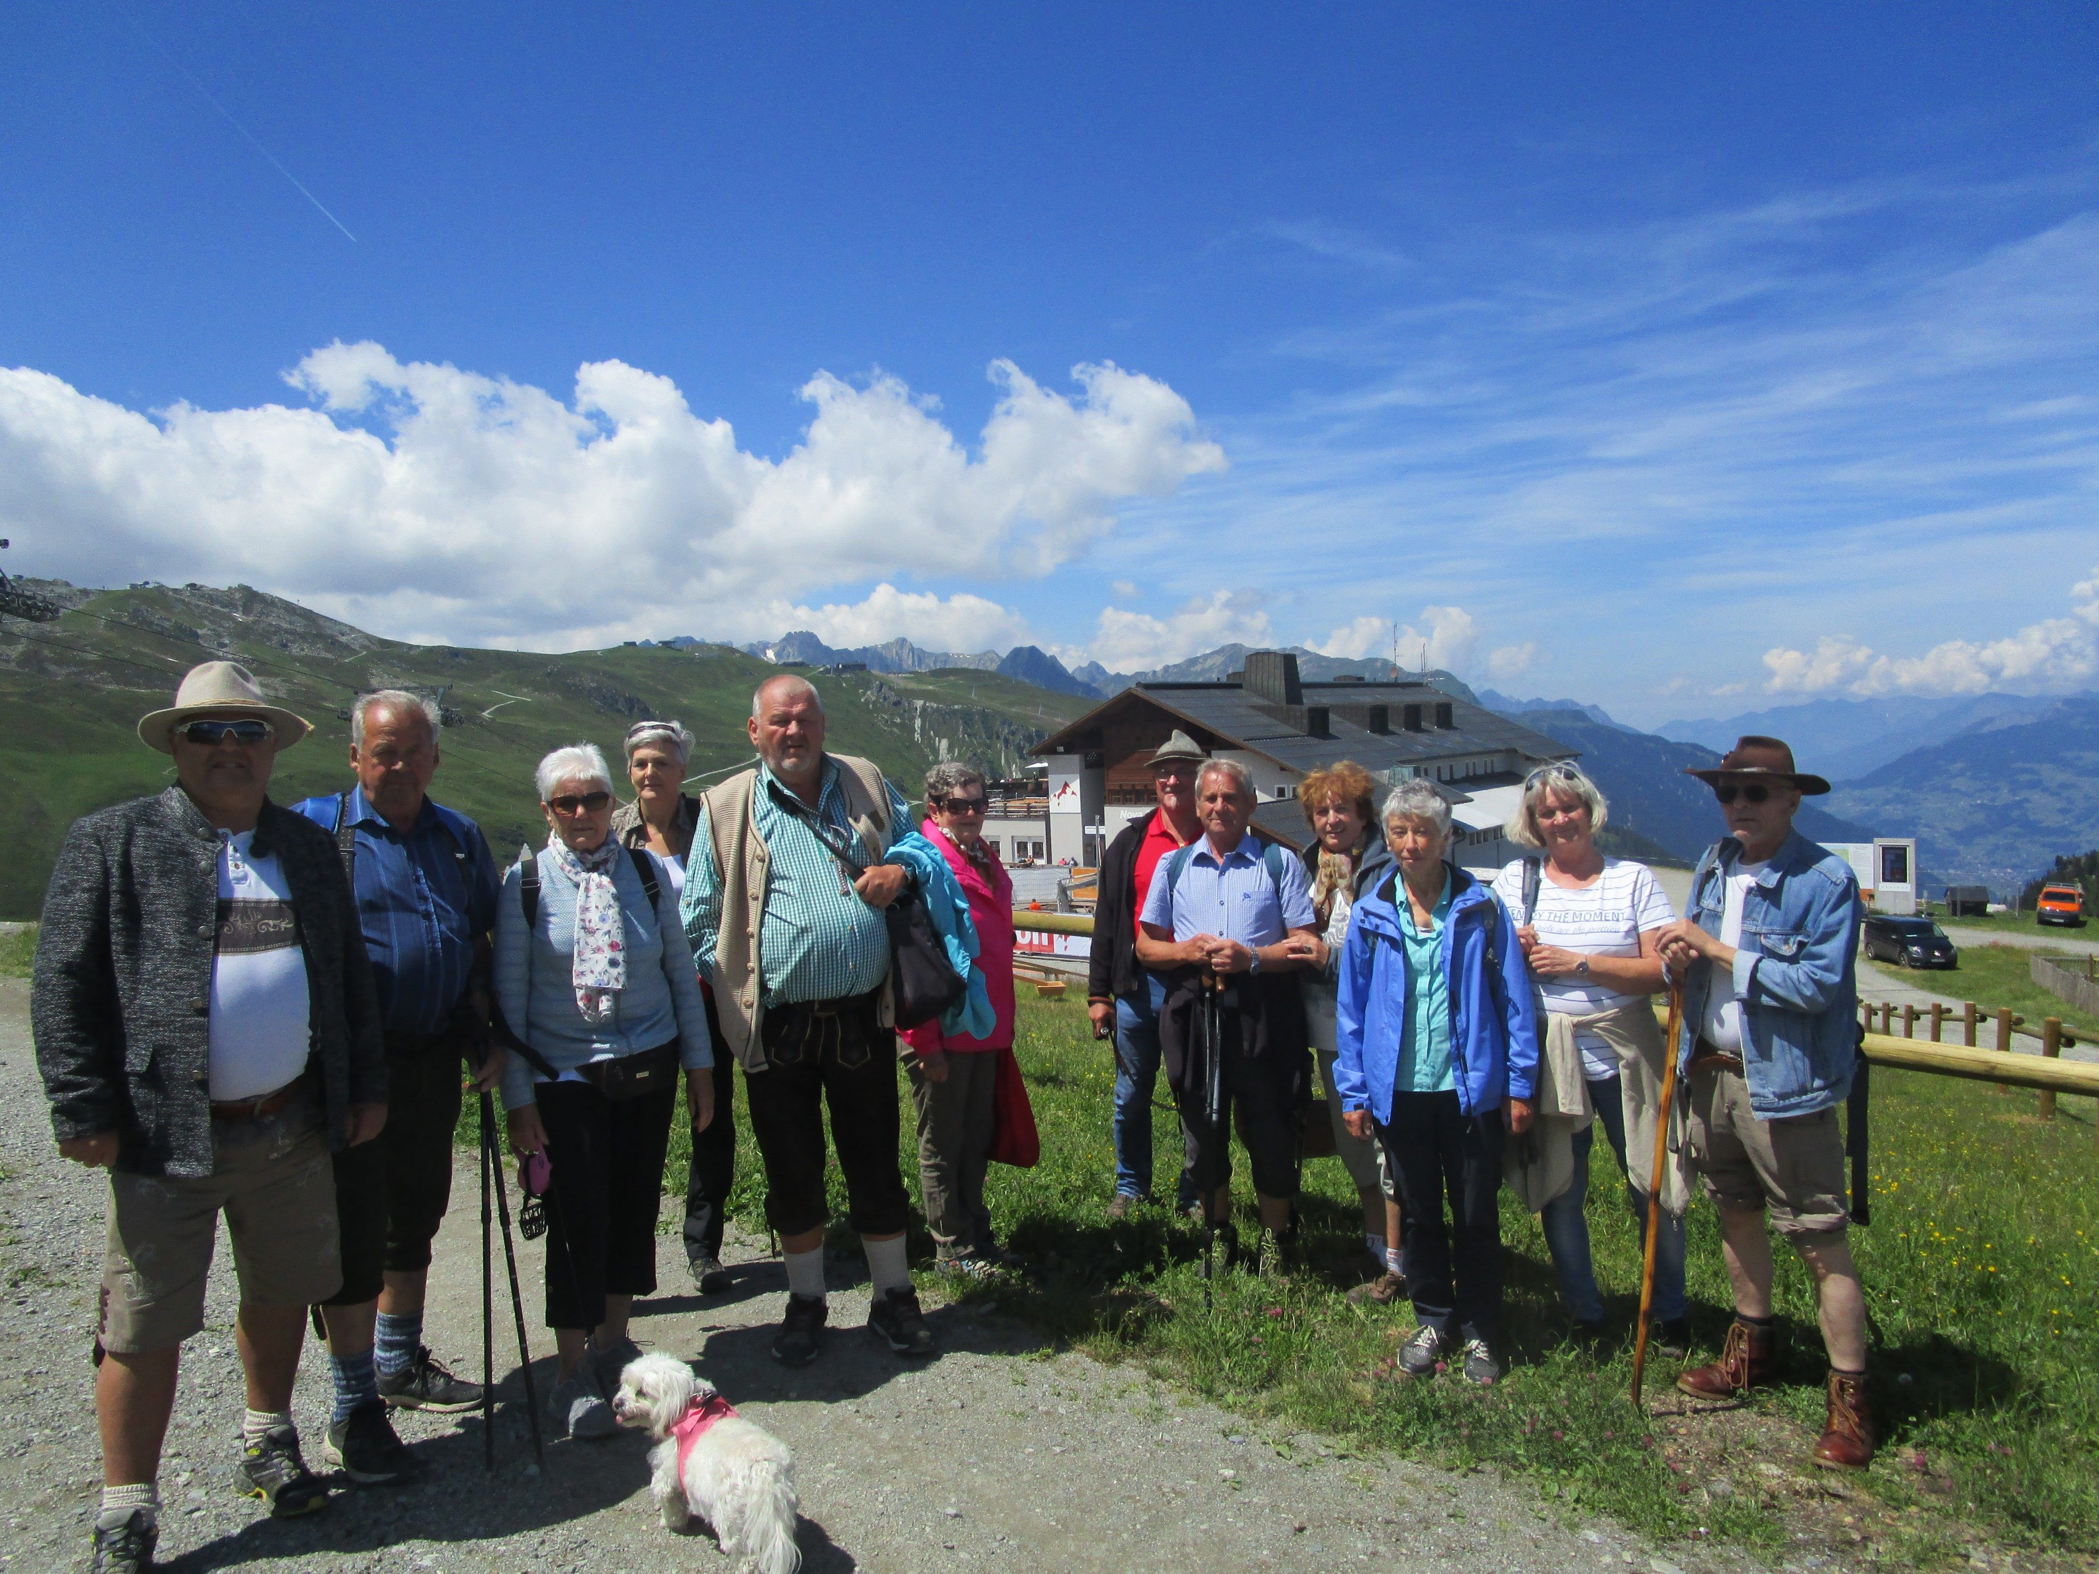
<svg viewBox="0 0 2099 1574"><path fill-rule="evenodd" d="M334 793L292 808L336 833ZM361 787L344 810L357 827L357 917L388 1033L437 1033L474 972L474 940L495 923L495 858L481 827L422 800L407 835L378 816Z"/></svg>

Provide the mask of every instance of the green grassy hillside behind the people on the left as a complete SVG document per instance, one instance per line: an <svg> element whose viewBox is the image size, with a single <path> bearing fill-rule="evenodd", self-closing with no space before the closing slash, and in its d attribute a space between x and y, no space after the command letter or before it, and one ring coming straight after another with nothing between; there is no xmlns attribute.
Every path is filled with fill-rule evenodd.
<svg viewBox="0 0 2099 1574"><path fill-rule="evenodd" d="M88 810L160 791L166 756L136 722L166 705L185 669L214 657L256 672L271 697L315 724L281 756L271 795L348 785L359 690L445 690L451 726L434 795L481 821L497 852L544 837L533 764L563 743L619 741L642 716L676 716L699 737L693 774L749 756L751 688L775 667L728 646L619 646L573 655L399 644L294 602L235 586L71 592L57 623L0 623L0 917L36 917L65 827ZM982 672L808 674L825 697L831 747L865 753L915 789L926 766L968 758L1018 770L1085 701Z"/></svg>

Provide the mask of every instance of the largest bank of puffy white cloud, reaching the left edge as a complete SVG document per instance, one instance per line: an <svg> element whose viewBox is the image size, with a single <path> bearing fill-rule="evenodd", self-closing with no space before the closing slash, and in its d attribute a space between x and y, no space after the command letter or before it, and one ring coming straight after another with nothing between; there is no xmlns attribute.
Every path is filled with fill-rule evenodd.
<svg viewBox="0 0 2099 1574"><path fill-rule="evenodd" d="M1119 502L1224 468L1163 382L1115 365L1073 378L1066 397L995 361L972 453L896 378L817 374L802 443L768 462L621 361L584 365L563 403L330 344L288 374L313 409L155 418L0 369L0 523L36 531L40 573L246 579L388 634L751 638L833 586L1047 573L1112 529ZM884 586L810 621L930 632L995 628L995 613Z"/></svg>

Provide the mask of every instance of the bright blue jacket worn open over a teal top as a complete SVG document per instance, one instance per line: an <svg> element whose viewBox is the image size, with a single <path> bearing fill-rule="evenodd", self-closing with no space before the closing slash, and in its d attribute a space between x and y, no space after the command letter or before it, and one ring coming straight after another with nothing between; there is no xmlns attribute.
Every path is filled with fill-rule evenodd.
<svg viewBox="0 0 2099 1574"><path fill-rule="evenodd" d="M1339 1058L1333 1085L1343 1110L1392 1123L1392 1083L1406 1030L1406 896L1394 869L1356 900L1335 970ZM1450 867L1450 917L1442 932L1450 984L1450 1072L1465 1114L1486 1114L1509 1098L1532 1098L1539 1081L1539 1016L1515 926L1492 892Z"/></svg>

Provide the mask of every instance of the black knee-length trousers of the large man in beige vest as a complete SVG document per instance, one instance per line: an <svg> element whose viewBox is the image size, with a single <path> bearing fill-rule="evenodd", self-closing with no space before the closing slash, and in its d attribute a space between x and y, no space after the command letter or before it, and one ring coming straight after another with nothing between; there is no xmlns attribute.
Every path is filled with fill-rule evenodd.
<svg viewBox="0 0 2099 1574"><path fill-rule="evenodd" d="M766 1068L743 1079L751 1135L766 1165L766 1224L798 1236L829 1221L823 1110L846 1173L852 1228L890 1236L911 1221L896 1098L896 1035L875 1020L875 997L770 1007Z"/></svg>

